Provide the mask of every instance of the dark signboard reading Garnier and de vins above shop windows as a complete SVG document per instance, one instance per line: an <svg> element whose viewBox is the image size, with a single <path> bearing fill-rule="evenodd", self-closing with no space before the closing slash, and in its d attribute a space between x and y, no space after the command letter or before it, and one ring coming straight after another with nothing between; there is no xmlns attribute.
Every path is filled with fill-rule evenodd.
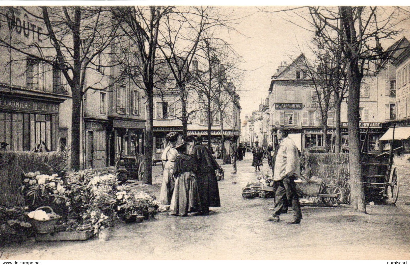
<svg viewBox="0 0 410 265"><path fill-rule="evenodd" d="M0 109L58 114L58 104L0 97Z"/></svg>

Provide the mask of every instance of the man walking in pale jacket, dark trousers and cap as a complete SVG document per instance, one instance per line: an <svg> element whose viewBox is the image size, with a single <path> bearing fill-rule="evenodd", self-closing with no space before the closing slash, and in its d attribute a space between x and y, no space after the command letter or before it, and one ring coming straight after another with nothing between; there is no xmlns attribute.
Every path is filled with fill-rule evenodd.
<svg viewBox="0 0 410 265"><path fill-rule="evenodd" d="M292 139L288 137L289 129L279 128L278 139L281 141L279 144L278 152L276 155L275 165L273 169L273 180L275 181L278 189L275 194L275 208L273 215L269 218L274 222L279 222L279 216L282 212L285 212L287 199L292 202L293 219L287 224L299 224L302 219L301 205L299 203L298 194L296 192L296 184L294 180L301 174L299 166L299 153L298 148Z"/></svg>

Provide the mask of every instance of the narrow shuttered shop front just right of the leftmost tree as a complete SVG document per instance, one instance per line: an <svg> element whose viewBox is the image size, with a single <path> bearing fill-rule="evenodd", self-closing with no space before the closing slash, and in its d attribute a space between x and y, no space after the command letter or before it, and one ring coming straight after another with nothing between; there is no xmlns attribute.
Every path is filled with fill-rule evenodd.
<svg viewBox="0 0 410 265"><path fill-rule="evenodd" d="M107 167L107 121L84 120L86 168Z"/></svg>

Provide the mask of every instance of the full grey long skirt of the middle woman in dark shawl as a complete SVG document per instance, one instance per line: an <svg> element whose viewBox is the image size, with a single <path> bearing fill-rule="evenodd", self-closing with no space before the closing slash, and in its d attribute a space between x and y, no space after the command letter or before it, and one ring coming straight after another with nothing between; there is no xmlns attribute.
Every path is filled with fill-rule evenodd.
<svg viewBox="0 0 410 265"><path fill-rule="evenodd" d="M184 172L175 181L171 206L169 207L171 215L184 216L188 212L200 212L201 210L196 178L195 176L189 178L189 176L189 172Z"/></svg>

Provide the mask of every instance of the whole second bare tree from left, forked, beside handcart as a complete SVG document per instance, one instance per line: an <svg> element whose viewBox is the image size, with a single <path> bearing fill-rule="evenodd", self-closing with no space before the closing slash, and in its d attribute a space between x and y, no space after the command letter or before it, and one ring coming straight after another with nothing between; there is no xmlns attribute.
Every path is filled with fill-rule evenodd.
<svg viewBox="0 0 410 265"><path fill-rule="evenodd" d="M125 73L137 87L145 91L146 131L145 131L145 172L142 182L152 184L153 160L153 98L158 80L159 59L157 59L159 25L173 11L174 7L116 7L114 17L120 22L125 39L121 50L126 51L123 60ZM132 55L133 57L129 57ZM135 58L135 59L134 59Z"/></svg>

